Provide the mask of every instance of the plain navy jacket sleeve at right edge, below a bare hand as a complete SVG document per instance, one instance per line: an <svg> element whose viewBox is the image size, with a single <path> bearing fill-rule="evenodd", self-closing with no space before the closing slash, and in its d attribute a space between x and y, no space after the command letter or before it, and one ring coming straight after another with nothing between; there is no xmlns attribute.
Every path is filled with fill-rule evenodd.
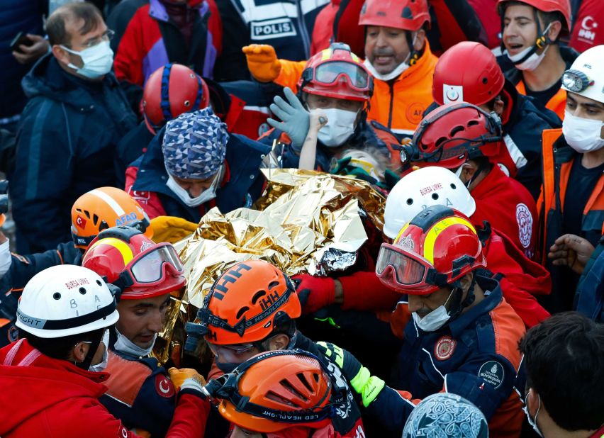
<svg viewBox="0 0 604 438"><path fill-rule="evenodd" d="M575 295L574 310L596 322L604 322L604 237L583 269Z"/></svg>

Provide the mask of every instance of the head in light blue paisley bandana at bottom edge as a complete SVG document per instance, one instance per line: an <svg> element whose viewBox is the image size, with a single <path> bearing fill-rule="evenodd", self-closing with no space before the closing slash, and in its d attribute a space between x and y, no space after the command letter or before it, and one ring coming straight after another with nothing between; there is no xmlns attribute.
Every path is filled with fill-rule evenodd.
<svg viewBox="0 0 604 438"><path fill-rule="evenodd" d="M411 412L403 438L446 437L461 434L466 438L488 438L483 413L472 403L452 393L428 395Z"/></svg>

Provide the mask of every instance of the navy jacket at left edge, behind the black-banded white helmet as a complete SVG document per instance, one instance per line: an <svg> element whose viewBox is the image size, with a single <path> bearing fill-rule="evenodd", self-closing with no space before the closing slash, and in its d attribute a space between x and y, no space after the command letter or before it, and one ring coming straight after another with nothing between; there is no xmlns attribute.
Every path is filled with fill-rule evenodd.
<svg viewBox="0 0 604 438"><path fill-rule="evenodd" d="M39 254L21 256L11 254L11 267L0 279L0 348L17 339L16 321L17 303L23 288L31 277L50 266L57 264L81 264L82 251L74 242L65 242L56 249Z"/></svg>

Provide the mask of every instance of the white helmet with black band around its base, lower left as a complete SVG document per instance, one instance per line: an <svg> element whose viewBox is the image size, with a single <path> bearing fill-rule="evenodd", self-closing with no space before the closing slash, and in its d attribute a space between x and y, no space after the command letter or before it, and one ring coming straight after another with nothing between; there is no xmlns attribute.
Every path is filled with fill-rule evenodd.
<svg viewBox="0 0 604 438"><path fill-rule="evenodd" d="M116 300L101 277L82 266L52 266L28 281L17 308L16 326L54 338L108 327L119 318Z"/></svg>

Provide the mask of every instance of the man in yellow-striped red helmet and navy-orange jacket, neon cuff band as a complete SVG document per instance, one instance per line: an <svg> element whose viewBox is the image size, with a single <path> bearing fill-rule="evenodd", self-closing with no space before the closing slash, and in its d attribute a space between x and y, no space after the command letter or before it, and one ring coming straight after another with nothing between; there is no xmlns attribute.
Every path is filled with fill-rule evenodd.
<svg viewBox="0 0 604 438"><path fill-rule="evenodd" d="M393 384L401 391L371 376L352 354L323 344L362 396L364 415L401 433L417 400L443 391L476 405L491 437L520 434L522 403L514 383L525 327L498 282L481 276L485 267L474 226L444 206L423 210L393 245L382 244L376 274L408 294L413 315L394 369Z"/></svg>

